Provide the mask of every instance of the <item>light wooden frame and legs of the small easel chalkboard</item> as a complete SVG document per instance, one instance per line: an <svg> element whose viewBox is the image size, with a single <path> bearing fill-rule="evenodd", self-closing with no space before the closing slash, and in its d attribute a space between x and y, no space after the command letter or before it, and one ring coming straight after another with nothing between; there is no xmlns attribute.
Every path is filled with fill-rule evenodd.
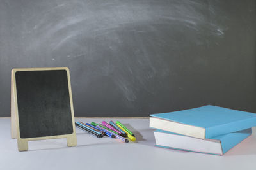
<svg viewBox="0 0 256 170"><path fill-rule="evenodd" d="M15 73L17 71L47 71L47 70L66 70L68 78L68 90L70 96L70 108L71 108L71 117L72 117L72 134L63 134L57 136L44 136L36 138L20 138L20 129L19 129L19 111L17 104L17 91L16 91L16 78ZM44 140L44 139L58 139L58 138L67 138L67 146L76 146L76 127L75 127L75 118L74 118L74 108L71 92L71 83L70 83L70 72L67 67L49 67L49 68L26 68L26 69L12 69L12 85L11 85L11 137L17 138L18 150L26 151L28 150L28 141L35 140Z"/></svg>

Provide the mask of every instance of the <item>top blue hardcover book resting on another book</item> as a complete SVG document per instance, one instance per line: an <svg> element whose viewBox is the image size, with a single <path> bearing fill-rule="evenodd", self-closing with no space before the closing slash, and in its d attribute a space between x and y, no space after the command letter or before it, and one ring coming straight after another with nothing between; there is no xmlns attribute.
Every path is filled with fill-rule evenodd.
<svg viewBox="0 0 256 170"><path fill-rule="evenodd" d="M212 138L256 126L256 114L218 106L150 115L150 127L195 138Z"/></svg>

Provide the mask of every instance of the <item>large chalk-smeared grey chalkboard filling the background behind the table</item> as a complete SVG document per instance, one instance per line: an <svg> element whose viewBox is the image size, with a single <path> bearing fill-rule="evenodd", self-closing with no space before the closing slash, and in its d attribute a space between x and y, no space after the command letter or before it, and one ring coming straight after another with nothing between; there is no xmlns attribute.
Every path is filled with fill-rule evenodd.
<svg viewBox="0 0 256 170"><path fill-rule="evenodd" d="M63 66L77 117L204 104L256 112L255 9L253 0L0 0L0 116L10 116L12 68Z"/></svg>

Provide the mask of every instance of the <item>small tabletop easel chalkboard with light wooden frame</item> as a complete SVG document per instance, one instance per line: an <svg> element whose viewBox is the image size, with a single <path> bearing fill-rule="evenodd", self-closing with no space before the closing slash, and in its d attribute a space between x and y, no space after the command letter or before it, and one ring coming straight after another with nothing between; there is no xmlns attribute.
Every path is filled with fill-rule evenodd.
<svg viewBox="0 0 256 170"><path fill-rule="evenodd" d="M76 146L67 67L13 69L11 96L11 134L19 151L42 139L67 138L68 146Z"/></svg>

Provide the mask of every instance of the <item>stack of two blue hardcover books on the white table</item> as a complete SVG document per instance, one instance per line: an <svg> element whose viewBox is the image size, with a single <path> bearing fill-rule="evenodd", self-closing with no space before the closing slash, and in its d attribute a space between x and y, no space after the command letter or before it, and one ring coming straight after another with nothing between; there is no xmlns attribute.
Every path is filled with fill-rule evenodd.
<svg viewBox="0 0 256 170"><path fill-rule="evenodd" d="M223 155L252 134L256 114L218 106L150 115L156 146Z"/></svg>

